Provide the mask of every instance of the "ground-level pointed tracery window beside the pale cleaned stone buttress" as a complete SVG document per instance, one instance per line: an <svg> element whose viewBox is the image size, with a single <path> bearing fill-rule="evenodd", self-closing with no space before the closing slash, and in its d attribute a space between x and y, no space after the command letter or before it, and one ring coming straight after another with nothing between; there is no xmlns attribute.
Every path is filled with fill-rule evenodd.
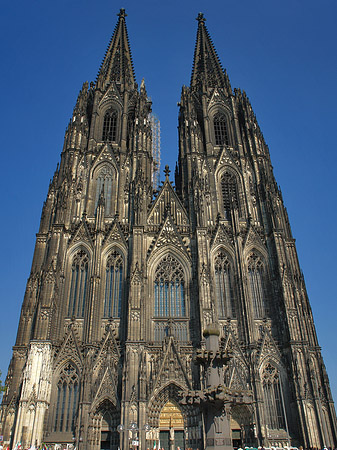
<svg viewBox="0 0 337 450"><path fill-rule="evenodd" d="M78 391L78 373L76 367L69 362L61 370L57 383L54 431L74 431Z"/></svg>

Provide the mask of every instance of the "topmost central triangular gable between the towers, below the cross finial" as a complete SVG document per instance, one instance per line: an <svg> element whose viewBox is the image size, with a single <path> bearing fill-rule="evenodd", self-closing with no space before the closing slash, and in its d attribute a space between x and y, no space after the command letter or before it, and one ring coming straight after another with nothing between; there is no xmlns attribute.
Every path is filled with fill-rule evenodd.
<svg viewBox="0 0 337 450"><path fill-rule="evenodd" d="M174 208L172 208L172 202L174 203ZM164 181L164 184L150 209L147 219L148 224L159 225L163 223L167 210L171 211L177 225L189 224L186 210L168 179Z"/></svg>

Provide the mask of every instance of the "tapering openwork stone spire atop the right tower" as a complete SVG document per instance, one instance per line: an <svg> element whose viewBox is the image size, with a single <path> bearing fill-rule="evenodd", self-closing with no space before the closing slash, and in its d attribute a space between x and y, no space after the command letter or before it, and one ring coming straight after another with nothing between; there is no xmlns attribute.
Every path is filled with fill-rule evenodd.
<svg viewBox="0 0 337 450"><path fill-rule="evenodd" d="M206 87L227 87L226 74L210 38L203 13L199 13L197 41L194 51L191 88L199 89L205 82ZM230 90L230 89L229 89Z"/></svg>

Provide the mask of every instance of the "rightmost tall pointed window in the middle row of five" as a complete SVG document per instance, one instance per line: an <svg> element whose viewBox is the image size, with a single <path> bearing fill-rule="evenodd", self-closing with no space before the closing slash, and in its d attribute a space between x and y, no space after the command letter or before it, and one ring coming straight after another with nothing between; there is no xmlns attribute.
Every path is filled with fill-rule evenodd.
<svg viewBox="0 0 337 450"><path fill-rule="evenodd" d="M266 313L265 276L261 258L252 253L248 259L248 282L255 319L261 319Z"/></svg>

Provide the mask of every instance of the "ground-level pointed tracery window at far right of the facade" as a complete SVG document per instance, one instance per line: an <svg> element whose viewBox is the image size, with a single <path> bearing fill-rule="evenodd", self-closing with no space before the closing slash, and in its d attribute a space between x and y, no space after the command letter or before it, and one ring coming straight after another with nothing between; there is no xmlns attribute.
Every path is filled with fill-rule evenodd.
<svg viewBox="0 0 337 450"><path fill-rule="evenodd" d="M284 402L280 374L270 363L266 364L263 369L262 384L267 425L271 429L284 429Z"/></svg>

